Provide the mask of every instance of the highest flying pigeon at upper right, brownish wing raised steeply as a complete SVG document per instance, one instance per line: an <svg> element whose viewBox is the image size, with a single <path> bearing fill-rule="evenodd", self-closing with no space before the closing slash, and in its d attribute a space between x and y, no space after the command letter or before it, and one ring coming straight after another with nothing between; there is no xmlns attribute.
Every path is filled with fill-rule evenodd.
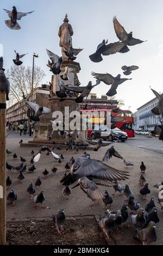
<svg viewBox="0 0 163 256"><path fill-rule="evenodd" d="M117 21L116 16L113 18L113 24L114 24L114 30L117 35L117 38L123 42L126 42L124 47L120 50L121 53L125 53L129 51L129 48L127 47L127 45L133 46L133 45L137 45L137 44L141 44L142 42L145 42L140 39L133 38L133 32L130 32L128 34L124 29L124 27L122 27L120 22Z"/></svg>

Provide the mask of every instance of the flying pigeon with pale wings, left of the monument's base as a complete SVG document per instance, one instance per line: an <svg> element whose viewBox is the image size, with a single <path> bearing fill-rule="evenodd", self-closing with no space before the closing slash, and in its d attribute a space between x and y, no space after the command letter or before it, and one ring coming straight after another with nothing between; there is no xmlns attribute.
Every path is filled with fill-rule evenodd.
<svg viewBox="0 0 163 256"><path fill-rule="evenodd" d="M31 101L26 101L26 104L34 110L35 114L34 115L30 115L30 119L33 121L40 121L40 116L43 114L48 114L51 113L51 109L47 108L47 107L43 107L40 106L37 103L31 102Z"/></svg>

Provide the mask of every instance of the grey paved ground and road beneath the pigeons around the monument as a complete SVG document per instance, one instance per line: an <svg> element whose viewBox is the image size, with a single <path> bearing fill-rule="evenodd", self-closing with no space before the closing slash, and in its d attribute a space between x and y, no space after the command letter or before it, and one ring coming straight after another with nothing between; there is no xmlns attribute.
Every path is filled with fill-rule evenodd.
<svg viewBox="0 0 163 256"><path fill-rule="evenodd" d="M69 200L65 200L62 195L62 188L63 186L60 184L60 180L65 172L65 164L67 161L70 160L71 156L73 155L75 159L77 159L79 156L83 155L83 150L79 150L78 153L68 150L67 153L65 153L64 150L54 150L54 153L56 154L64 154L66 157L65 161L61 164L57 163L52 155L46 156L45 153L41 154L41 159L39 162L35 164L36 170L33 173L28 172L28 167L30 166L29 160L31 159L30 152L32 149L37 153L39 148L35 147L22 147L20 148L20 144L18 142L20 139L23 139L23 142L27 142L30 138L28 135L21 136L17 132L11 132L7 138L7 148L12 151L12 154L7 155L7 161L9 164L12 164L14 166L18 166L20 162L20 156L23 156L27 160L27 170L24 173L25 179L23 181L23 184L20 184L17 182L16 176L17 171L11 170L7 171L8 175L12 179L12 186L11 188L14 189L14 191L17 193L17 204L12 207L11 205L7 205L7 220L35 220L35 218L47 218L52 216L52 214L55 214L58 209L65 208L66 215L68 216L84 216L84 215L101 215L104 216L104 203L97 204L95 203L94 206L90 206L91 200L86 196L86 194L80 189L80 187L72 189L72 194L70 196ZM142 141L145 141L145 147L142 148ZM134 163L134 167L126 167L123 164L123 161L121 159L117 159L116 157L112 157L112 159L106 163L114 168L121 169L121 170L128 170L130 173L129 180L121 181L122 185L129 184L129 187L131 191L134 193L135 202L140 202L140 205L142 208L145 209L146 203L149 201L149 199L154 197L155 204L158 208L158 216L160 218L160 222L156 224L157 227L157 235L158 239L153 244L155 245L161 245L162 244L162 225L163 225L163 214L160 210L160 205L156 203L156 200L158 199L158 190L156 188L153 188L153 185L157 182L160 182L163 180L162 175L162 155L156 154L155 152L151 152L149 150L152 149L152 143L154 145L154 150L158 151L160 150L160 142L158 143L157 148L157 142L159 140L157 138L148 139L144 138L143 136L136 136L134 139L129 139L125 143L115 143L114 147L120 153L124 158L126 158L128 161L131 161ZM148 145L149 143L149 145ZM162 144L163 145L163 144ZM95 151L89 151L91 154L92 159L99 159L102 160L106 149L108 147L103 147L98 150L98 153ZM159 151L158 151L159 152ZM14 160L12 155L16 153L18 156L17 160ZM151 194L147 196L146 200L142 200L139 196L140 191L140 185L139 185L139 177L140 177L140 164L141 161L144 161L147 169L145 178L146 181L149 184L149 189L151 190ZM57 173L55 176L53 176L51 169L52 167L56 166L58 168ZM48 178L46 180L43 179L42 171L47 168L49 171ZM36 194L39 193L39 191L43 190L45 193L45 206L46 209L41 209L40 206L38 209L34 208L33 201L29 200L29 195L27 193L27 187L29 185L29 182L32 181L33 184L37 178L37 176L40 176L42 184L40 189L36 191ZM161 179L162 177L162 179ZM72 186L71 186L72 187ZM108 190L109 194L114 192L112 187L102 187L101 190ZM111 206L111 210L117 210L121 209L122 204L124 204L123 196L118 196L118 193L116 196L112 196L113 203ZM126 224L124 224L124 228L121 227L120 234L117 235L116 243L118 245L134 245L139 244L139 242L134 240L134 229L131 225L130 221L128 220Z"/></svg>

